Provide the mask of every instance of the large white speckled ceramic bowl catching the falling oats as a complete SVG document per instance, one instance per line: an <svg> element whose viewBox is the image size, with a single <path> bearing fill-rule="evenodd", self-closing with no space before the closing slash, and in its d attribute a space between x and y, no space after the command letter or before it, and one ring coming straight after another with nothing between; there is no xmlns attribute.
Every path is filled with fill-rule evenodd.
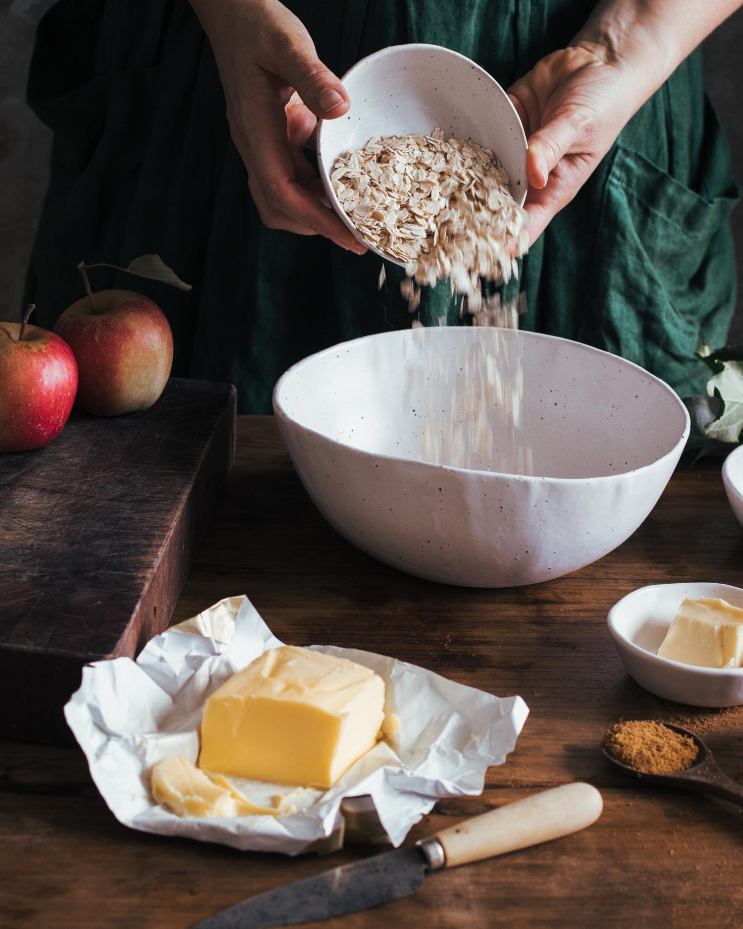
<svg viewBox="0 0 743 929"><path fill-rule="evenodd" d="M411 366L430 365L435 350L452 384L468 340L499 334L522 353L523 435L540 477L426 464ZM459 326L313 355L280 378L274 410L307 492L346 539L411 574L476 587L547 581L616 548L658 501L689 430L671 388L629 361ZM442 409L442 423L451 415Z"/></svg>

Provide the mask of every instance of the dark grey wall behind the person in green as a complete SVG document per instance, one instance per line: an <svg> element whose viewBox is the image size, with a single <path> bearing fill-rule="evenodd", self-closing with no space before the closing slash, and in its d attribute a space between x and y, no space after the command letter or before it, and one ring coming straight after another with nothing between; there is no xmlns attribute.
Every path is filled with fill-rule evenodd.
<svg viewBox="0 0 743 929"><path fill-rule="evenodd" d="M46 184L49 133L26 108L23 94L35 26L51 5L50 0L0 0L0 320L18 316ZM743 182L741 47L743 11L739 10L707 40L705 71L710 95L730 138L736 177ZM740 280L729 341L743 342L743 207L736 210L733 222Z"/></svg>

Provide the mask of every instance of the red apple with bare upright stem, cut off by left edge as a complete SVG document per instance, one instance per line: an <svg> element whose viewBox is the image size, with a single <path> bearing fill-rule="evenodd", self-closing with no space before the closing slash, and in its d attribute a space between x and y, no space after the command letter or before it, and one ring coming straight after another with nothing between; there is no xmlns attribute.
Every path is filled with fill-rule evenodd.
<svg viewBox="0 0 743 929"><path fill-rule="evenodd" d="M72 348L59 335L0 322L0 452L39 449L57 438L77 390Z"/></svg>

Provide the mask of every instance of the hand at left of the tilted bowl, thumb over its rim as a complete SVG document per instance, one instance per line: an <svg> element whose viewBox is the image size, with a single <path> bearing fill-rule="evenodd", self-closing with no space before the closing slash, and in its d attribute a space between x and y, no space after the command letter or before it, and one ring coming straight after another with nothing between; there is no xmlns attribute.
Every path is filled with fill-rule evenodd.
<svg viewBox="0 0 743 929"><path fill-rule="evenodd" d="M314 145L317 117L337 119L350 106L305 27L277 0L191 0L191 6L214 50L230 134L263 222L323 235L363 255L366 247L326 205L303 152Z"/></svg>

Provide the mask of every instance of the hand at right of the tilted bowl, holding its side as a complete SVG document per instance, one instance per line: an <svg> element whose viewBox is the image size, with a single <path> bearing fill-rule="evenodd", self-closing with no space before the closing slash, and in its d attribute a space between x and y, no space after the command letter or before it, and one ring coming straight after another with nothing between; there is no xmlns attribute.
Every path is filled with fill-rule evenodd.
<svg viewBox="0 0 743 929"><path fill-rule="evenodd" d="M642 104L637 78L599 46L571 46L509 89L528 138L529 242L570 203Z"/></svg>

